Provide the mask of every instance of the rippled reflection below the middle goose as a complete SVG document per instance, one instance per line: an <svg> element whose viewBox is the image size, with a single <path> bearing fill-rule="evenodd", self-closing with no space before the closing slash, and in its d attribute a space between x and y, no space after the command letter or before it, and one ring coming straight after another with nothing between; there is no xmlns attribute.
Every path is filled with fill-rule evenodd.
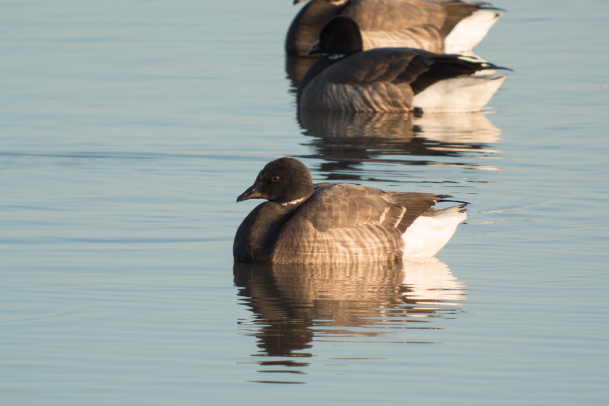
<svg viewBox="0 0 609 406"><path fill-rule="evenodd" d="M300 109L297 118L303 133L314 137L308 143L314 153L301 158L323 159L320 170L329 179L336 172L357 172L365 162L499 169L472 161L501 153L489 145L498 141L501 130L485 113L416 116ZM346 177L340 173L337 178Z"/></svg>

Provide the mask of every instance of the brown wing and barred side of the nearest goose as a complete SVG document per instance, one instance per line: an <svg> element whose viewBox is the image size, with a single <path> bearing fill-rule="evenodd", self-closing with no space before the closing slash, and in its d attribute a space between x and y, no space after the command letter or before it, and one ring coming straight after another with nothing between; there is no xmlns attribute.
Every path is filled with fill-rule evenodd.
<svg viewBox="0 0 609 406"><path fill-rule="evenodd" d="M318 187L284 226L273 260L395 261L401 257L403 230L437 200L354 184Z"/></svg>

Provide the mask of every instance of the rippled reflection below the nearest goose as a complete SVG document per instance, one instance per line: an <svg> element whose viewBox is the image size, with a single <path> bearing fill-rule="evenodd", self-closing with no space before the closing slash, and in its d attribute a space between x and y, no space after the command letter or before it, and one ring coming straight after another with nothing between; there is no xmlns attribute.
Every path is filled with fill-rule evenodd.
<svg viewBox="0 0 609 406"><path fill-rule="evenodd" d="M466 300L465 285L436 258L343 267L236 263L233 270L253 313L240 327L258 338L263 372L303 373L315 341L394 342L395 329L438 329L432 318L454 317Z"/></svg>

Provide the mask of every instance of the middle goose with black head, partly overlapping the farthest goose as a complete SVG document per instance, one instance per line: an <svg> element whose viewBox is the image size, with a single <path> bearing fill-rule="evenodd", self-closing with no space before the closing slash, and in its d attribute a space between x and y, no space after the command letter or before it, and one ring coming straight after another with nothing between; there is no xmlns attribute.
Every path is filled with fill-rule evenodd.
<svg viewBox="0 0 609 406"><path fill-rule="evenodd" d="M507 77L492 63L414 48L362 51L353 19L323 26L311 51L326 52L298 86L298 105L337 111L479 111ZM481 72L491 71L491 72ZM478 72L478 73L477 73Z"/></svg>

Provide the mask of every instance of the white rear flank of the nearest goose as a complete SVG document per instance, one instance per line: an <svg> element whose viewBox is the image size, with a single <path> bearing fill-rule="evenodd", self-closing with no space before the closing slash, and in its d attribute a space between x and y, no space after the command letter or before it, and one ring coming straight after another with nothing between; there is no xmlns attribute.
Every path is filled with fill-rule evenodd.
<svg viewBox="0 0 609 406"><path fill-rule="evenodd" d="M406 233L404 240L403 259L426 258L434 256L446 245L457 225L467 218L460 212L459 206L437 211L432 216L418 217Z"/></svg>

